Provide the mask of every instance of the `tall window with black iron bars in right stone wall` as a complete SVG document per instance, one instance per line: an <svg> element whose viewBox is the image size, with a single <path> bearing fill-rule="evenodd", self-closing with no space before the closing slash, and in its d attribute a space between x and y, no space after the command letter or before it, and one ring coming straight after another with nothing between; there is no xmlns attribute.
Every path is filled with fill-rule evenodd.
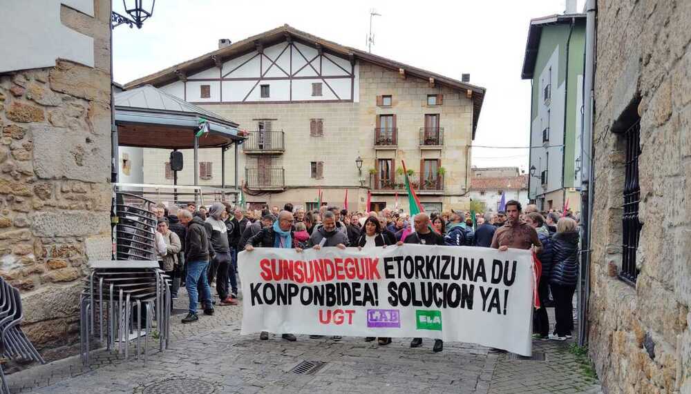
<svg viewBox="0 0 691 394"><path fill-rule="evenodd" d="M636 284L636 250L641 237L641 221L638 220L638 203L641 187L638 184L638 157L641 155L641 119L636 119L624 132L626 143L626 173L624 177L624 213L622 219L623 242L619 277L628 284Z"/></svg>

